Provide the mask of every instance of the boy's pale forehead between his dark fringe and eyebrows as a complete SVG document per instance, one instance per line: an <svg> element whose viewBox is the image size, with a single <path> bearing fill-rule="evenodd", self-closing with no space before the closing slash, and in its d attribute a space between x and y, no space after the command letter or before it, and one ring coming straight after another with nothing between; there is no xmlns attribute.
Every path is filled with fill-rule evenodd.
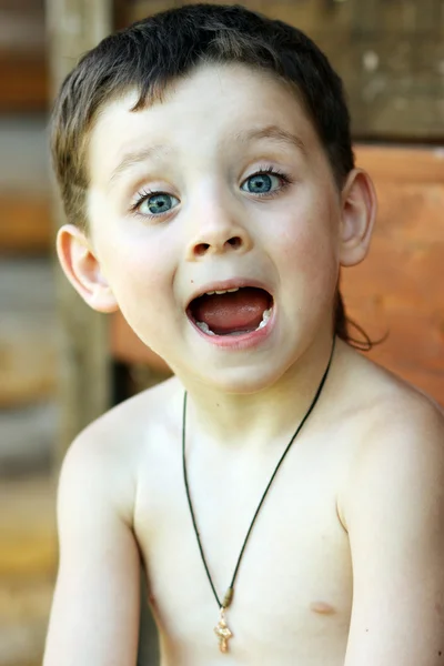
<svg viewBox="0 0 444 666"><path fill-rule="evenodd" d="M290 84L272 73L242 64L205 64L171 83L162 101L131 111L138 92L109 102L90 135L91 175L103 164L113 170L122 158L142 147L162 144L164 153L193 154L239 145L254 129L275 127L319 148L313 124ZM251 132L253 130L253 132ZM260 133L260 132L259 132Z"/></svg>

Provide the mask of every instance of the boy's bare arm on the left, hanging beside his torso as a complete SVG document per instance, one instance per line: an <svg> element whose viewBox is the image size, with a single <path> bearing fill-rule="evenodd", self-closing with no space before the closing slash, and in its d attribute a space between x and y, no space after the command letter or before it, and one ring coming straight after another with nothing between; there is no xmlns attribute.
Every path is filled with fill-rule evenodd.
<svg viewBox="0 0 444 666"><path fill-rule="evenodd" d="M88 440L72 445L60 477L60 564L43 666L134 666L140 559L129 475L112 446Z"/></svg>

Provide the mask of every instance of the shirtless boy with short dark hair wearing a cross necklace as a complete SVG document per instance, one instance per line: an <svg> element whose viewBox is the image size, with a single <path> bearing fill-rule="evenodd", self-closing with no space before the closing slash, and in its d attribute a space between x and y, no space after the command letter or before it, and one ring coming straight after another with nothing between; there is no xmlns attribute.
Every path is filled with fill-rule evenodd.
<svg viewBox="0 0 444 666"><path fill-rule="evenodd" d="M174 379L73 443L44 666L444 663L436 406L347 344L375 216L341 81L297 30L189 6L63 84L68 279Z"/></svg>

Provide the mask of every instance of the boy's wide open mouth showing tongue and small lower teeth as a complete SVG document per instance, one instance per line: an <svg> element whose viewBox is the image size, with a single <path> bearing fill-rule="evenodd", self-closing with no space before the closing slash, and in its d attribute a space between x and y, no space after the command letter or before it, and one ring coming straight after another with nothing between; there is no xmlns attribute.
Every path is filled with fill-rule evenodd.
<svg viewBox="0 0 444 666"><path fill-rule="evenodd" d="M246 335L266 326L272 295L256 286L241 286L202 294L191 301L186 314L206 335Z"/></svg>

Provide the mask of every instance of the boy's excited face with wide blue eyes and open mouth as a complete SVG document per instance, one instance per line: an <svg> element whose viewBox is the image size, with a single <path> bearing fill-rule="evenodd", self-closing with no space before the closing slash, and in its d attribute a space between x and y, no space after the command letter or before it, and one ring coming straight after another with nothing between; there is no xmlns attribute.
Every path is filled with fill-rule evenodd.
<svg viewBox="0 0 444 666"><path fill-rule="evenodd" d="M331 336L355 206L337 192L303 108L266 73L205 65L162 103L131 112L135 99L99 115L90 238L62 231L59 254L77 262L70 276L85 300L111 310L115 299L183 380L233 392L271 385Z"/></svg>

